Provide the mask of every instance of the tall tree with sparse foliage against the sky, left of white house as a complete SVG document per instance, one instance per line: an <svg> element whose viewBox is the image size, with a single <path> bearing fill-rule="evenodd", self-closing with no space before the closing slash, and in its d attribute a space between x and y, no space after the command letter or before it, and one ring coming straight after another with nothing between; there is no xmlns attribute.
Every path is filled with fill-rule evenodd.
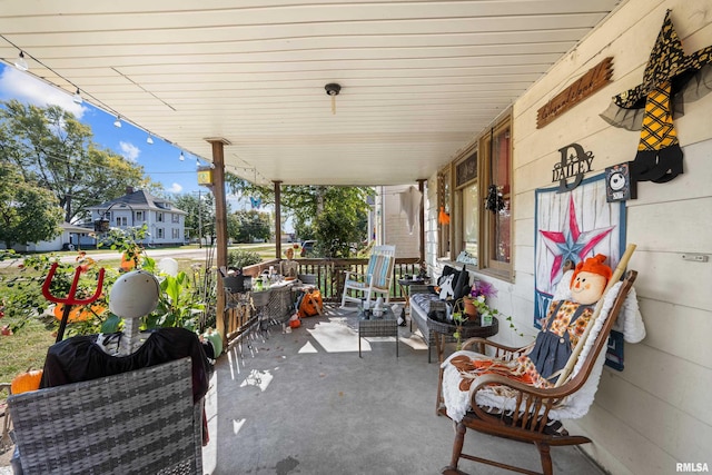
<svg viewBox="0 0 712 475"><path fill-rule="evenodd" d="M144 168L92 141L91 128L58 106L0 108L0 161L17 167L24 182L50 190L72 222L87 207L115 199L126 188L155 189Z"/></svg>

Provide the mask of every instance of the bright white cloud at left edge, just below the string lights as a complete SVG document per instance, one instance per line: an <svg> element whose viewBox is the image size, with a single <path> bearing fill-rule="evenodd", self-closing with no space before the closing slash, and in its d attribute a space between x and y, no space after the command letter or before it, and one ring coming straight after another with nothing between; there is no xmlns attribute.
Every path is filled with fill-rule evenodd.
<svg viewBox="0 0 712 475"><path fill-rule="evenodd" d="M80 103L72 100L67 92L50 86L30 73L19 71L10 66L1 69L0 97L4 100L17 99L23 103L46 107L59 106L81 119L87 110Z"/></svg>

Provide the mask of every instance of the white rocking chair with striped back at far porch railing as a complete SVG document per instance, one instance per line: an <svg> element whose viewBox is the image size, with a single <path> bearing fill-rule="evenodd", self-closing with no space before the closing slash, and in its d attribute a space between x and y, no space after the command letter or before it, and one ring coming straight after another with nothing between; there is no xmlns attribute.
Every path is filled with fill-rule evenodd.
<svg viewBox="0 0 712 475"><path fill-rule="evenodd" d="M375 246L368 258L366 274L346 271L342 308L346 307L346 301L370 300L376 294L385 295L387 304L390 300L390 281L395 263L395 246Z"/></svg>

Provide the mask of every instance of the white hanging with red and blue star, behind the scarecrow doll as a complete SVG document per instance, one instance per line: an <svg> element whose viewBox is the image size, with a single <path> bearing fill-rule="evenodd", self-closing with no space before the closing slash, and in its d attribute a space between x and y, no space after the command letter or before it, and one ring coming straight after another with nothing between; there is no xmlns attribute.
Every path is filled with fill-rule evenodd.
<svg viewBox="0 0 712 475"><path fill-rule="evenodd" d="M625 249L625 204L607 202L605 176L587 178L568 191L536 190L534 325L546 316L566 260L575 266L603 254L615 268Z"/></svg>

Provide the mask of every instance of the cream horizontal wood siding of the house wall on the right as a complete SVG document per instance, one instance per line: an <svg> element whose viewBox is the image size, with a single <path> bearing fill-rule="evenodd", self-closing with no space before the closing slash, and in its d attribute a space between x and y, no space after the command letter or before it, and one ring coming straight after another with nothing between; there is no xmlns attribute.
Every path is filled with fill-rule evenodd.
<svg viewBox="0 0 712 475"><path fill-rule="evenodd" d="M642 81L665 10L688 53L712 44L710 0L630 0L552 67L514 103L514 270L515 281L493 281L495 306L515 317L521 338L501 327L496 339L531 340L534 296L534 190L551 187L558 148L577 142L591 150L594 170L632 160L639 132L609 126L599 113L611 97ZM613 82L543 129L536 111L603 58L613 57ZM712 255L712 95L685 106L675 120L684 151L684 175L669 184L642 182L627 202L626 241L637 245L630 268L647 337L625 345L625 369L605 368L595 403L584 418L568 422L594 443L583 446L613 474L675 473L676 463L712 466L712 261L682 259ZM429 177L435 184L436 177ZM429 187L426 239L436 269L437 207Z"/></svg>

